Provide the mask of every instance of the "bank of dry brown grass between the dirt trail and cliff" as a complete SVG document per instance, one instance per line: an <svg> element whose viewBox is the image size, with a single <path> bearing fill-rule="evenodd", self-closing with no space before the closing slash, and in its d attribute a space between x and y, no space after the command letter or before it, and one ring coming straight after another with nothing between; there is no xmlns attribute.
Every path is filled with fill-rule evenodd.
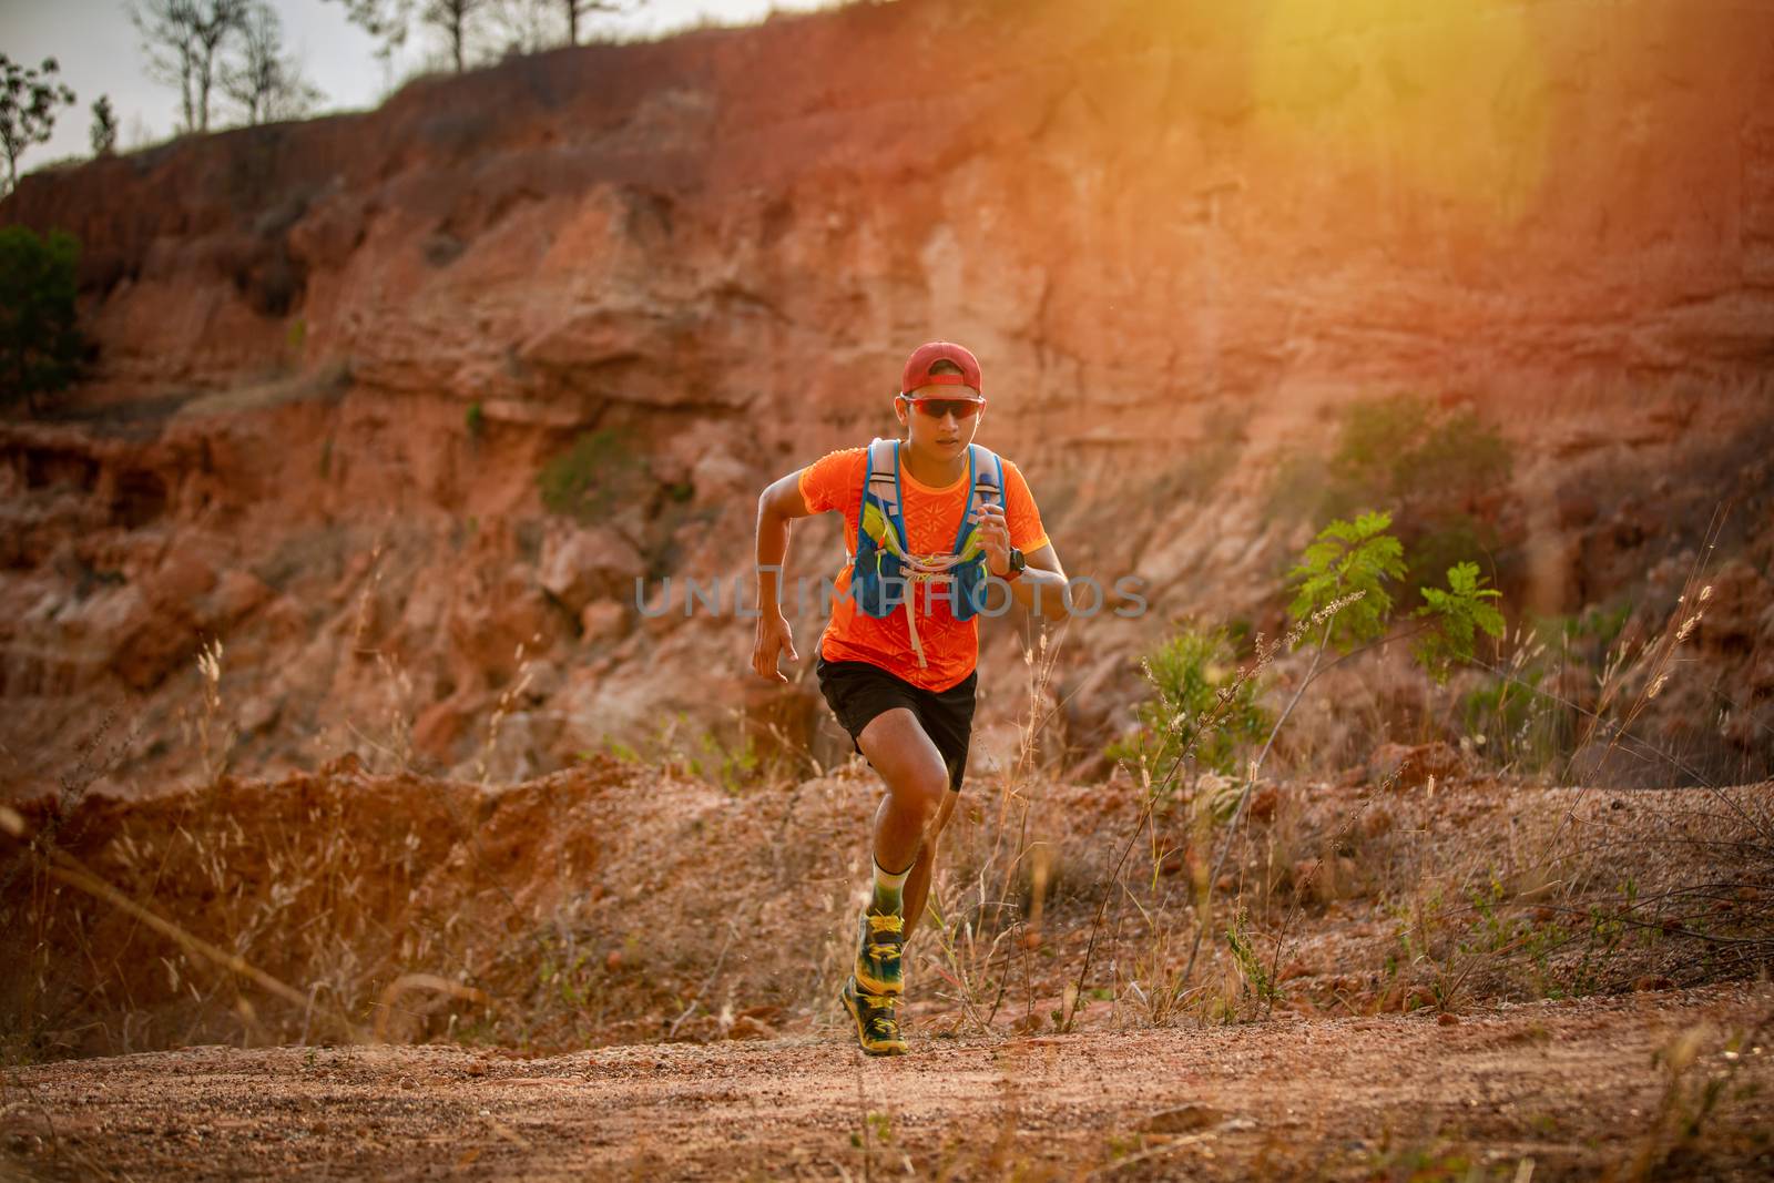
<svg viewBox="0 0 1774 1183"><path fill-rule="evenodd" d="M1680 678L1708 599L1698 568L1692 584L1657 639L1609 658L1582 708L1584 750L1632 745ZM413 777L412 683L362 646L369 594L348 656L380 662L387 718L353 725L358 743L318 773L227 775L213 644L195 784L83 800L89 750L55 800L9 816L11 1059L193 1039L552 1050L832 1018L873 773L747 763L706 777L600 757L493 787L500 722L525 690L520 646L479 784ZM1474 759L1409 789L1256 768L1064 784L1043 750L1061 644L1027 647L1018 759L976 780L944 839L914 945L908 1009L926 1034L1458 1011L1765 974L1774 960L1767 786L1559 789L1476 775ZM1332 747L1307 736L1284 754ZM367 775L364 756L389 775Z"/></svg>

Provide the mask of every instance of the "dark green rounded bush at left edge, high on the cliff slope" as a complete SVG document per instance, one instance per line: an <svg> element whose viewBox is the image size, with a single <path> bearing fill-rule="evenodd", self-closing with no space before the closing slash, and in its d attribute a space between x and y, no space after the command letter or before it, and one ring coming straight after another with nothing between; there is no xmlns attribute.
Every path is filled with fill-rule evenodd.
<svg viewBox="0 0 1774 1183"><path fill-rule="evenodd" d="M78 262L73 234L0 229L0 401L23 399L32 415L41 396L80 376L87 342L75 323Z"/></svg>

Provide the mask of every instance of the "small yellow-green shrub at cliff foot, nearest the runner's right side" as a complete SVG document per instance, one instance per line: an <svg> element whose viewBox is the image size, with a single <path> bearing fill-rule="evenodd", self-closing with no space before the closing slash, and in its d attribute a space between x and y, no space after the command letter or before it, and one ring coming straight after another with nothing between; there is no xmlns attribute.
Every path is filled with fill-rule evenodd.
<svg viewBox="0 0 1774 1183"><path fill-rule="evenodd" d="M1185 628L1148 653L1141 667L1155 697L1135 708L1139 731L1109 745L1111 759L1137 764L1144 757L1148 764L1158 764L1189 752L1196 768L1231 773L1244 750L1268 734L1272 720L1256 702L1254 678L1238 686L1226 718L1201 731L1201 720L1219 702L1221 688L1236 674L1236 654L1226 630Z"/></svg>

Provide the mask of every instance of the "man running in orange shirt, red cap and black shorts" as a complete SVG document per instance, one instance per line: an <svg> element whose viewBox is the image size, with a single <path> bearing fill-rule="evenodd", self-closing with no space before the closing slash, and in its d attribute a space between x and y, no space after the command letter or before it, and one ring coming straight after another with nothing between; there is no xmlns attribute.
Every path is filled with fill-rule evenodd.
<svg viewBox="0 0 1774 1183"><path fill-rule="evenodd" d="M875 892L857 921L857 961L843 1002L869 1055L907 1050L894 1016L901 952L924 912L937 837L967 772L979 660L979 612L1006 591L1064 619L1066 575L1029 484L974 445L986 399L979 362L958 344L919 346L899 378L905 440L832 452L757 498L757 644L752 669L788 681L798 662L779 587L789 521L844 516L850 564L837 580L818 651L820 690L887 786L875 811Z"/></svg>

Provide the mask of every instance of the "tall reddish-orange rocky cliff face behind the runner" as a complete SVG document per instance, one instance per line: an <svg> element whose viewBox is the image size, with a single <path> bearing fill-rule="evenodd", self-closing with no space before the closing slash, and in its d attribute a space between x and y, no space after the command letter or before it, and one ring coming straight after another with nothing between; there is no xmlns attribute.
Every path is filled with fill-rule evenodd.
<svg viewBox="0 0 1774 1183"><path fill-rule="evenodd" d="M1519 608L1660 621L1735 564L1714 656L1747 752L1770 34L1723 0L903 0L28 177L0 218L82 238L101 360L62 420L0 427L4 775L35 791L101 729L137 736L122 784L188 772L211 637L236 766L516 775L742 709L804 741L811 681L749 685L747 621L648 619L633 580L731 592L756 490L887 433L937 335L981 355L981 440L1068 569L1150 580L1148 615L1064 640L1068 740L1171 621L1274 628L1311 530L1279 474L1405 392L1513 449L1471 509ZM802 530L800 569L836 537Z"/></svg>

